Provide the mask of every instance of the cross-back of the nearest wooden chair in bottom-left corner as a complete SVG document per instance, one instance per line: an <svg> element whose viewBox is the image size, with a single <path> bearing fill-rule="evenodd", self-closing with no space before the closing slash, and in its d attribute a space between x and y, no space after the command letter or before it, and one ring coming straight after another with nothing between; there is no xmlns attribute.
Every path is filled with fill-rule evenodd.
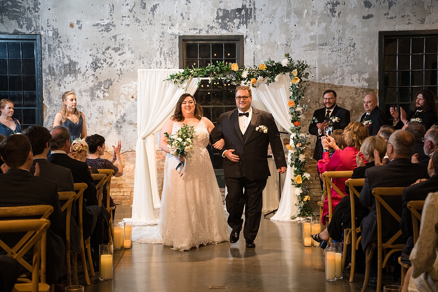
<svg viewBox="0 0 438 292"><path fill-rule="evenodd" d="M50 208L53 207L49 206ZM13 207L11 207L13 208ZM7 255L18 261L28 271L32 272L32 291L38 291L38 282L46 282L46 235L50 221L47 219L0 220L0 233L26 232L26 235L10 247L0 239L0 246ZM32 236L27 237L31 233ZM30 265L23 257L34 248L33 262Z"/></svg>

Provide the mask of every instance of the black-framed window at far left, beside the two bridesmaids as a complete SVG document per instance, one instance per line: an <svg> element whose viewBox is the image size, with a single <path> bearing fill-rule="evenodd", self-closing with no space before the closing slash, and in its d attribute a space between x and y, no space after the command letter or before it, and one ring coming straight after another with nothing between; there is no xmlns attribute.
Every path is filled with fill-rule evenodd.
<svg viewBox="0 0 438 292"><path fill-rule="evenodd" d="M42 125L41 35L0 34L0 100L14 102L22 128Z"/></svg>

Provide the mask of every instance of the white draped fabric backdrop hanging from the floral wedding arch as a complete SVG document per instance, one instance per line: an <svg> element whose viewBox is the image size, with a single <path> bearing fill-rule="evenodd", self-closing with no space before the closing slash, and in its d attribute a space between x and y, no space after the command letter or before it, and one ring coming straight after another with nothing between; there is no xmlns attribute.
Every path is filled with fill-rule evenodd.
<svg viewBox="0 0 438 292"><path fill-rule="evenodd" d="M158 223L154 208L159 208L160 199L157 186L157 168L155 161L155 133L171 116L178 98L189 93L194 95L198 88L198 79L175 86L172 82L163 82L170 74L179 69L139 69L137 97L137 129L138 140L135 149L134 197L132 218L125 221L134 225L152 225ZM261 84L253 88L253 102L257 108L265 107L268 112L288 132L291 127L289 117L289 75L282 75L278 82L269 85ZM259 105L259 106L258 106ZM290 152L289 152L290 155ZM288 156L289 156L288 155ZM288 157L289 158L289 157ZM275 174L274 174L275 175ZM292 221L290 218L297 212L297 196L295 187L290 184L293 168L288 166L283 186L279 209L272 220ZM297 220L300 218L296 218Z"/></svg>

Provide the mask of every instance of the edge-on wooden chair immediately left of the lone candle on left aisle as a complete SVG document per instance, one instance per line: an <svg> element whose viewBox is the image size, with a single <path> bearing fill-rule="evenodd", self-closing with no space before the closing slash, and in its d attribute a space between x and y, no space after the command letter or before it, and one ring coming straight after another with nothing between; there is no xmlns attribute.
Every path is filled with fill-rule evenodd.
<svg viewBox="0 0 438 292"><path fill-rule="evenodd" d="M90 278L88 277L88 270L87 270L87 262L85 260L85 249L87 250L87 256L88 256L88 265L90 267L90 274L92 276L95 276L94 269L93 269L93 259L91 257L91 246L90 246L90 238L84 239L84 231L83 231L83 222L82 222L82 204L84 204L84 191L87 189L86 183L75 183L74 184L74 190L77 191L76 193L76 200L78 201L78 227L79 227L79 236L81 240L81 264L82 264L82 271L84 272L84 278L85 283L87 285L91 285ZM78 264L77 264L77 258L78 253L73 253L73 280L75 285L79 285L78 281Z"/></svg>

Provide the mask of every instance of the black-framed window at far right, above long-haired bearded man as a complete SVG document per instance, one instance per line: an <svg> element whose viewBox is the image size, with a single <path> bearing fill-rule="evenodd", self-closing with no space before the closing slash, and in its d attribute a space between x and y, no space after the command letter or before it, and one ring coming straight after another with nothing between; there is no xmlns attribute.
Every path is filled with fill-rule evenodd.
<svg viewBox="0 0 438 292"><path fill-rule="evenodd" d="M406 111L416 93L438 94L438 30L379 32L379 102Z"/></svg>

